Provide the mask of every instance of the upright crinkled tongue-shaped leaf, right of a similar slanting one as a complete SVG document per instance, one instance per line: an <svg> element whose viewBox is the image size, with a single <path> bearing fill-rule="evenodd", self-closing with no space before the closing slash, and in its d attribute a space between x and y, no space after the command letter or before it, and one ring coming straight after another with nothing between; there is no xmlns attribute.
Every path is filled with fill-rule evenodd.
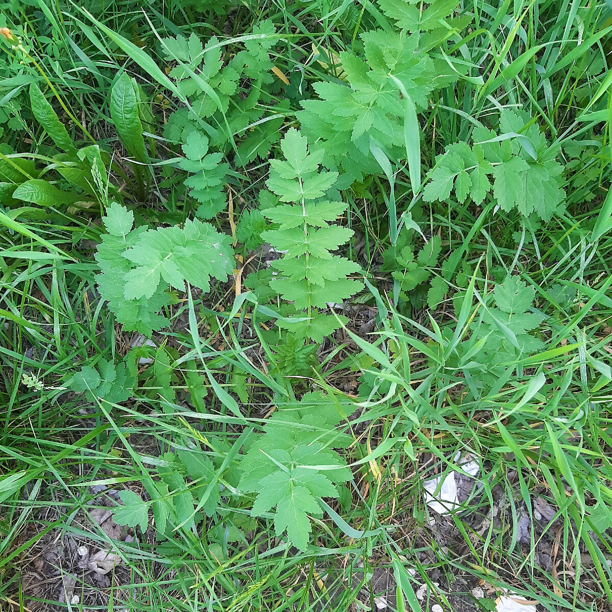
<svg viewBox="0 0 612 612"><path fill-rule="evenodd" d="M111 89L110 110L113 124L130 157L139 162L148 162L143 124L138 113L138 97L132 79L126 72L121 73Z"/></svg>

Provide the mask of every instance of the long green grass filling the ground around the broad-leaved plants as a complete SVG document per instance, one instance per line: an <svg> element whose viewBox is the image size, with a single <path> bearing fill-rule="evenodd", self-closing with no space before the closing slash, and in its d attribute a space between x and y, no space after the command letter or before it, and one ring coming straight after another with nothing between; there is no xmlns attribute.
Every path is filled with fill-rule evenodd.
<svg viewBox="0 0 612 612"><path fill-rule="evenodd" d="M348 211L337 223L356 234L341 254L362 266L368 285L346 300L346 329L307 341L304 359L278 357L287 340L275 317L300 313L274 293L264 297L267 287L253 289L257 305L253 296L234 301L231 277L208 293L173 290L164 307L170 326L152 335L161 349L132 348L136 334L100 299L93 255L110 201L151 228L195 217L188 174L176 168L184 134L173 138L166 127L174 111L185 111L190 130L207 130L218 162L230 165L224 191L231 210L209 221L235 237L235 224L258 207L269 160L283 157L276 136L300 127L296 113L300 101L316 98L313 84L346 84L333 64L341 52L364 56L362 32L397 31L381 7L336 0L155 0L144 12L119 0L85 10L64 0L3 7L0 27L21 37L21 47L0 40L0 609L340 612L376 609L375 598L384 596L388 610L438 603L452 612L494 609L502 589L537 601L539 610L609 608L612 12L605 2L457 4L457 15L472 15L469 26L428 53L440 61L437 70L450 58L463 76L417 109L419 147L412 142L406 153L401 143L400 157L389 153L391 174L372 164L343 188ZM269 36L265 60L275 71L243 75L223 112L195 119L193 97L187 105L168 76L182 60L160 40L193 32L206 43L216 35L226 65L265 20L278 33ZM140 162L111 119L122 69L140 97L149 152ZM61 154L32 113L32 82L77 149L100 147L103 173L94 176L88 157ZM250 95L255 102L247 106ZM455 195L425 202L436 156L449 144L471 143L477 122L496 126L502 109L516 108L561 147L563 207L545 222L499 209L492 193L482 204ZM401 112L403 125L408 113ZM276 114L282 127L258 131ZM241 164L236 149L247 137L264 153ZM415 152L420 186L406 160ZM70 174L75 169L88 184ZM10 195L32 178L78 198ZM396 240L398 223L406 230ZM411 271L401 247L417 253L432 236L441 239L441 256L429 277L405 291L392 276ZM248 273L265 271L266 262L234 247L244 291ZM430 282L440 276L444 296L428 307ZM529 303L504 324L495 288L507 277L524 283ZM529 327L528 316L537 324ZM499 348L518 341L531 344ZM132 376L127 400L88 399L69 388L82 367L124 358ZM243 442L312 390L354 403L339 427L349 435L340 452L353 480L338 499L326 498L331 512L311 517L310 545L297 550L275 532L273 510L251 516L254 496L240 490L237 468ZM195 531L179 524L156 533L149 512L146 532L126 526L112 538L108 525L105 531L92 520L93 509L119 503L117 494L92 487L131 490L148 502L168 469L181 474L197 504L198 482L185 480L168 454L196 447L222 487L215 488L217 511L198 513ZM455 466L456 453L476 458L480 484L465 512L436 518L423 481ZM171 503L184 490L170 491ZM553 510L549 519L537 518L536 500ZM49 553L52 542L64 548ZM108 584L78 567L79 546L121 556ZM46 565L36 569L45 552ZM43 578L32 578L36 571ZM61 575L70 574L78 599L61 603ZM32 580L39 591L28 586ZM423 583L429 591L419 602ZM483 600L470 595L479 585Z"/></svg>

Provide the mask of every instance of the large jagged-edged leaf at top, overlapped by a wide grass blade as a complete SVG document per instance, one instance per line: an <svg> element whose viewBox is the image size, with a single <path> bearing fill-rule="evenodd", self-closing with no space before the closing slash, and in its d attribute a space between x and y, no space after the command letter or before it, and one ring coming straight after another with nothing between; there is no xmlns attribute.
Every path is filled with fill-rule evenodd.
<svg viewBox="0 0 612 612"><path fill-rule="evenodd" d="M402 0L394 0L394 4L420 13L419 8ZM352 53L340 53L347 83L315 83L318 99L303 100L304 110L297 113L302 133L311 142L321 141L326 166L341 168L357 179L376 167L371 140L379 143L394 163L418 148L415 143L406 143L406 135L418 136L412 106L416 110L427 106L431 92L447 79L447 67L435 64L419 48L416 35L375 30L360 34L360 38L365 61ZM398 88L402 95L408 95L409 102L401 100ZM407 131L406 121L410 124ZM419 182L414 161L411 155L412 178Z"/></svg>

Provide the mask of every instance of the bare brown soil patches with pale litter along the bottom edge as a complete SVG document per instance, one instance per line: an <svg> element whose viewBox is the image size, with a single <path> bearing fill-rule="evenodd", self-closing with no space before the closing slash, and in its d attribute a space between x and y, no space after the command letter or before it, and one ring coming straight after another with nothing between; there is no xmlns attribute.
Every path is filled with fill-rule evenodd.
<svg viewBox="0 0 612 612"><path fill-rule="evenodd" d="M513 475L509 474L509 482L512 481ZM401 535L398 544L404 545L403 539L406 539L408 546L403 554L405 567L414 577L412 586L423 612L439 612L435 606L441 606L444 612L492 610L494 600L502 593L494 591L481 578L482 571L478 575L479 572L470 570L470 567L483 568L483 559L485 570L496 573L517 590L524 590L525 584L534 584L534 580L553 590L551 580L554 580L554 576L564 576L567 589L567 577L572 572L572 565L559 545L563 525L559 518L554 519L556 509L543 491L532 491L532 507L528 509L521 498L518 483L508 491L501 487L493 488L493 507L483 494L478 477L457 477L457 487L458 498L465 502L467 510L457 513L455 520L450 515L430 511L427 523L412 527L413 517L406 515L400 518L410 527L405 535L401 535L401 529L398 530L397 535ZM37 520L30 523L28 530L15 542L17 547L34 540L34 544L24 550L16 564L26 610L60 612L67 609L68 603L80 606L78 609L81 610L106 608L111 592L116 602L129 600L129 589L135 588L135 572L125 565L121 551L126 545L132 545L136 534L130 528L118 526L111 517L110 509L118 503L118 490L99 485L91 487L89 493L95 496L89 504L91 509L88 507L72 515L65 515L64 500L52 500L50 507L40 512ZM405 507L412 507L412 504ZM59 521L60 510L67 517L63 523ZM513 516L516 517L515 548L512 554L506 554L496 561L493 546L488 553L483 553L483 537L487 537L491 529L494 534L502 533L501 542L508 552ZM70 528L67 528L68 523ZM466 543L459 525L470 534L471 546ZM530 578L528 559L532 537L534 567ZM152 529L144 534L144 540L151 545L154 543ZM499 547L499 541L496 546ZM397 610L396 585L390 559L372 558L369 561L373 566L370 580L357 595L361 609L373 612ZM583 551L582 562L581 592L588 592L588 581L595 580L595 574L586 551ZM321 580L334 593L332 600L340 601L343 592L351 587L346 569L320 569L318 564L317 567ZM362 567L356 568L353 588L363 577ZM159 565L160 574L166 570ZM17 612L20 609L17 592L13 602L13 610ZM612 610L610 604L605 602L599 602L597 609Z"/></svg>

